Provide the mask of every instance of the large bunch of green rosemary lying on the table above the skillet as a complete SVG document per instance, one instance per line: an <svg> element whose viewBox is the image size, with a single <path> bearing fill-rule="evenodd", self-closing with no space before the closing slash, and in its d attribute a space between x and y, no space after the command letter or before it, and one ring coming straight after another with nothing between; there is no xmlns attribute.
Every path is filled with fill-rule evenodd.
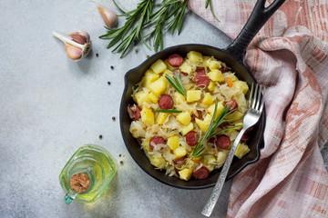
<svg viewBox="0 0 328 218"><path fill-rule="evenodd" d="M118 10L126 16L126 22L118 29L107 29L107 34L100 35L101 39L109 39L108 48L117 45L112 52L122 53L121 58L128 52L128 48L142 41L149 50L150 47L146 43L145 38L154 39L154 50L157 52L163 49L163 30L165 27L173 34L178 30L181 31L185 10L188 0L180 2L180 0L162 0L162 6L158 11L153 13L153 7L156 0L142 0L137 8L129 12L123 11L113 0ZM144 31L149 26L154 25L153 30L145 35ZM145 35L145 36L144 36Z"/></svg>

